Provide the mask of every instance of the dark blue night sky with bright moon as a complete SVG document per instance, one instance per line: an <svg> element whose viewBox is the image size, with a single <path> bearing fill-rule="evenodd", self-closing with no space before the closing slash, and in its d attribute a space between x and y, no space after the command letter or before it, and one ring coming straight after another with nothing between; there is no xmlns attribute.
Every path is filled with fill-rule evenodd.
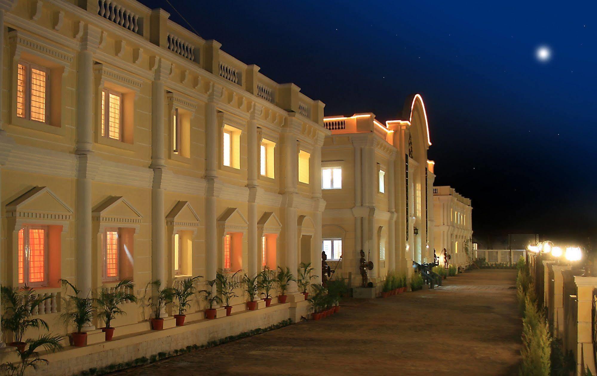
<svg viewBox="0 0 597 376"><path fill-rule="evenodd" d="M167 2L142 2L190 29ZM170 2L202 38L294 82L327 116L389 120L420 93L436 185L472 199L475 236L593 241L595 1Z"/></svg>

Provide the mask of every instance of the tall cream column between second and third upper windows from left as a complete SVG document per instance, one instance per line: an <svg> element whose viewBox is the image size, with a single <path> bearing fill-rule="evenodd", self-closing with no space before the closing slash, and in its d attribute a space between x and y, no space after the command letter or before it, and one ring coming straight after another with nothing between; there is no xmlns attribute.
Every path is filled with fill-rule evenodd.
<svg viewBox="0 0 597 376"><path fill-rule="evenodd" d="M164 208L164 171L165 166L165 95L164 78L170 68L170 63L160 59L152 82L152 162L153 183L151 191L152 201L152 280L160 280L162 288L169 281L166 280L166 218ZM155 291L153 292L156 293ZM168 316L162 309L162 317Z"/></svg>

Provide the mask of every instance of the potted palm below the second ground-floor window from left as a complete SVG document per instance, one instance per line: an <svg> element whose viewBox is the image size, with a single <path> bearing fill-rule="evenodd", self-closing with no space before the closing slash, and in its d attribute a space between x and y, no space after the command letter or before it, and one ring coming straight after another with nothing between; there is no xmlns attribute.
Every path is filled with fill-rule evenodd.
<svg viewBox="0 0 597 376"><path fill-rule="evenodd" d="M114 286L112 291L107 288L102 288L100 293L97 295L97 316L101 317L106 323L101 331L106 333L106 341L111 341L114 335L114 328L110 326L112 319L120 314L127 314L119 306L125 302L136 302L137 297L131 294L129 291L133 291L135 284L133 279L127 278L118 282L118 285Z"/></svg>

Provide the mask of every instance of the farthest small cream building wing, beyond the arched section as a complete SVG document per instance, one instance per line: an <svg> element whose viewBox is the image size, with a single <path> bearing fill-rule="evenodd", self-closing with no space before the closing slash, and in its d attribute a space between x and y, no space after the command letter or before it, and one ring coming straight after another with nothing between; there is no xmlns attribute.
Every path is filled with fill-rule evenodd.
<svg viewBox="0 0 597 376"><path fill-rule="evenodd" d="M449 263L463 269L475 257L470 199L444 185L433 187L433 204L436 253L442 256L445 249L451 256Z"/></svg>

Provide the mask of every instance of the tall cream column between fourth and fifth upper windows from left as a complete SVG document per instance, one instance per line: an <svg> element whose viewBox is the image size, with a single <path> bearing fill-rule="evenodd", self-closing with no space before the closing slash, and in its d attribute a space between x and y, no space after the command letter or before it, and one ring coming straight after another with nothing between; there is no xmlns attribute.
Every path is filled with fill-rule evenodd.
<svg viewBox="0 0 597 376"><path fill-rule="evenodd" d="M257 239L257 187L259 187L259 167L260 167L260 143L261 137L257 135L256 108L253 110L247 124L247 188L249 188L249 201L247 203L248 231L247 231L247 271L250 276L259 271L259 239Z"/></svg>

